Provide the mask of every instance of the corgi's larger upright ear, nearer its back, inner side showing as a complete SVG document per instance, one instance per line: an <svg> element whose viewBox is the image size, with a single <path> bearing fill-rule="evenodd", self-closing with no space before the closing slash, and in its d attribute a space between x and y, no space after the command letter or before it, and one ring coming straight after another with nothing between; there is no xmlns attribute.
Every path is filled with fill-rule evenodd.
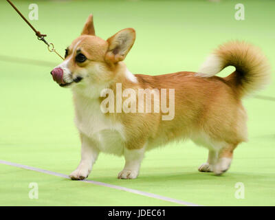
<svg viewBox="0 0 275 220"><path fill-rule="evenodd" d="M109 47L105 60L111 63L123 61L135 42L135 30L133 28L123 29L111 36L107 42Z"/></svg>

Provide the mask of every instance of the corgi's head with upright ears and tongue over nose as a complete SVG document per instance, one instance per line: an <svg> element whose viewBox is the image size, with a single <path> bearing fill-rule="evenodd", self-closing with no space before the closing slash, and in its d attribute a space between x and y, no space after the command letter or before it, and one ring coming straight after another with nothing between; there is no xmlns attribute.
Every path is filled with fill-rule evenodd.
<svg viewBox="0 0 275 220"><path fill-rule="evenodd" d="M65 50L65 60L51 74L61 87L105 83L115 77L115 69L135 42L135 30L126 28L107 41L95 35L89 15L83 32Z"/></svg>

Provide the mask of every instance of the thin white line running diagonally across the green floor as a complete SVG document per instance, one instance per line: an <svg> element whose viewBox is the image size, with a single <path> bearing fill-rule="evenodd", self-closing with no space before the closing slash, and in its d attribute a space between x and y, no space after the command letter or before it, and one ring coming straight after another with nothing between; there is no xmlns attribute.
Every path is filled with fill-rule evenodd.
<svg viewBox="0 0 275 220"><path fill-rule="evenodd" d="M32 167L32 166L27 166L27 165L22 165L22 164L16 164L16 163L4 161L4 160L1 160L1 159L0 159L0 164L16 166L16 167L19 167L19 168L24 168L26 170L33 170L33 171L40 172L40 173L46 173L46 174L49 174L49 175L54 175L56 177L63 177L63 178L66 178L66 179L70 179L68 175L65 175L63 173L56 173L56 172L53 172L53 171L50 171L50 170L43 170L41 168L35 168L35 167ZM162 195L156 195L156 194L153 194L153 193L150 193L150 192L143 192L143 191L140 191L140 190L134 190L134 189L126 188L126 187L123 187L123 186L115 186L115 185L111 185L111 184L105 184L105 183L102 183L100 181L94 181L94 180L88 180L88 179L80 180L80 181L84 181L84 182L87 182L89 184L95 184L95 185L98 185L98 186L105 186L105 187L109 187L109 188L114 188L116 190L123 190L123 191L126 191L126 192L131 192L131 193L134 193L134 194L137 194L137 195L143 195L143 196L146 196L146 197L151 197L151 198L154 198L154 199L170 201L170 202L177 203L177 204L184 205L184 206L199 206L195 203L190 203L188 201L181 201L179 199L164 197Z"/></svg>

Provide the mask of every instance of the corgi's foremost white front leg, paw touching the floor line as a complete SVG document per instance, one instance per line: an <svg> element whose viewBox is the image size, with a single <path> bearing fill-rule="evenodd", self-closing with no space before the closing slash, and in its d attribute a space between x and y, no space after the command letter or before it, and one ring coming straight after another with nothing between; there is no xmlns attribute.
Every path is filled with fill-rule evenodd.
<svg viewBox="0 0 275 220"><path fill-rule="evenodd" d="M88 137L85 135L80 135L80 137L82 142L81 160L76 170L69 175L69 177L73 180L81 180L88 177L99 153L98 148L96 148L96 144L89 140Z"/></svg>

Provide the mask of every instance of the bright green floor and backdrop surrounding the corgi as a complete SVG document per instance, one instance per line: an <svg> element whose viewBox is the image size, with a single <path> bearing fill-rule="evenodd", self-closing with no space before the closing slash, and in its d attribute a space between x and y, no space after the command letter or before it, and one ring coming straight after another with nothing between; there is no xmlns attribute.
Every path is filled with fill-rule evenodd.
<svg viewBox="0 0 275 220"><path fill-rule="evenodd" d="M274 69L275 1L242 1L245 21L234 19L239 1L13 1L28 15L38 3L39 21L32 24L58 52L75 39L89 13L96 33L107 39L122 28L135 28L137 40L126 58L133 73L164 74L197 71L207 54L231 39L258 45ZM50 76L61 62L5 1L0 3L0 159L69 174L80 159L80 141L74 127L72 94ZM3 56L14 57L5 58ZM16 58L52 62L31 65ZM225 70L223 74L230 72ZM275 97L275 84L259 93ZM203 206L275 205L275 102L244 100L249 115L250 142L236 148L232 167L221 177L199 173L207 151L182 142L146 154L140 176L116 179L122 157L100 155L89 179L180 199ZM30 182L39 184L39 199L29 199ZM245 199L234 197L237 182ZM70 181L0 164L0 205L8 206L175 206L103 186Z"/></svg>

